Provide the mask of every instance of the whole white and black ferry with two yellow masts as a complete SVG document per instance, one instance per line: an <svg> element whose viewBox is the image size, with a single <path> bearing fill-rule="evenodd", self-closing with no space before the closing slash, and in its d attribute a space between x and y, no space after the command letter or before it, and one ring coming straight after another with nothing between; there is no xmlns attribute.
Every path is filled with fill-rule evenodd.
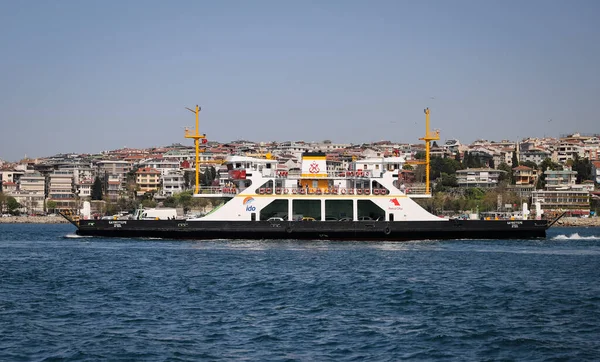
<svg viewBox="0 0 600 362"><path fill-rule="evenodd" d="M196 159L205 135L196 132ZM429 143L439 133L429 132L426 114L426 170ZM196 162L194 197L224 202L194 218L148 220L93 220L89 210L63 213L82 236L151 237L165 239L300 239L300 240L446 240L544 238L557 221L521 219L462 220L438 217L415 199L431 197L429 173L422 189L403 182L403 157L350 160L330 165L324 153L304 153L297 171L278 168L267 158L230 156L226 176L218 187L199 187ZM138 212L139 214L139 212Z"/></svg>

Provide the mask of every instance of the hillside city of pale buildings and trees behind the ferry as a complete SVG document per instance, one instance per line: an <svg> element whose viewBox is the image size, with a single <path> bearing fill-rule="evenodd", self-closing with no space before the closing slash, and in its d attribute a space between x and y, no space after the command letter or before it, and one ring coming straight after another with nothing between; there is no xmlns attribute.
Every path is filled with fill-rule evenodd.
<svg viewBox="0 0 600 362"><path fill-rule="evenodd" d="M228 157L270 158L277 170L300 169L302 154L323 152L328 169L344 171L361 160L400 157L407 190L424 191L424 144L380 141L369 144L322 142L207 142L201 145L202 188L227 186ZM432 142L433 196L419 201L429 211L512 212L522 202L540 203L546 214L594 216L600 191L600 135L515 141ZM365 162L366 163L366 162ZM365 164L365 167L367 165ZM122 148L98 154L58 154L6 162L0 159L0 214L45 215L77 209L97 200L96 210L113 214L140 203L147 207L182 206L204 210L218 199L192 198L195 187L193 146L173 144L147 149ZM186 210L186 211L187 211Z"/></svg>

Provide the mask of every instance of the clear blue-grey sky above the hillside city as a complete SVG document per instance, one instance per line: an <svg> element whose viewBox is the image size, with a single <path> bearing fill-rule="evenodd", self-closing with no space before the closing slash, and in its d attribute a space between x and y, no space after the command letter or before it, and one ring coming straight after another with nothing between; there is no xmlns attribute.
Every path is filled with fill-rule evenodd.
<svg viewBox="0 0 600 362"><path fill-rule="evenodd" d="M600 133L600 1L3 1L0 158ZM552 122L549 120L552 119Z"/></svg>

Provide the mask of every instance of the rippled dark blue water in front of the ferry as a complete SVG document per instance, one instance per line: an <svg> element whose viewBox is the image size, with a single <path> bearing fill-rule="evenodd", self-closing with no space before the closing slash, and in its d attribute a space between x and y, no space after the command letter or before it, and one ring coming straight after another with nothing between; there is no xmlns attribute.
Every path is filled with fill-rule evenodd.
<svg viewBox="0 0 600 362"><path fill-rule="evenodd" d="M599 360L600 229L408 243L0 224L0 361Z"/></svg>

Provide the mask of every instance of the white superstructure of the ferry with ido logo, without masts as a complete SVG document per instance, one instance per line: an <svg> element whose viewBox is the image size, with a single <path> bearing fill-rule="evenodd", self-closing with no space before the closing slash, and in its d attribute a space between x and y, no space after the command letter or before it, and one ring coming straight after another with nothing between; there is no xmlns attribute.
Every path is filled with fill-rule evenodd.
<svg viewBox="0 0 600 362"><path fill-rule="evenodd" d="M300 167L288 170L271 159L231 156L218 190L195 196L226 201L204 220L393 221L411 214L432 219L399 184L403 164L401 157L380 157L342 166L328 164L324 153L308 152Z"/></svg>

